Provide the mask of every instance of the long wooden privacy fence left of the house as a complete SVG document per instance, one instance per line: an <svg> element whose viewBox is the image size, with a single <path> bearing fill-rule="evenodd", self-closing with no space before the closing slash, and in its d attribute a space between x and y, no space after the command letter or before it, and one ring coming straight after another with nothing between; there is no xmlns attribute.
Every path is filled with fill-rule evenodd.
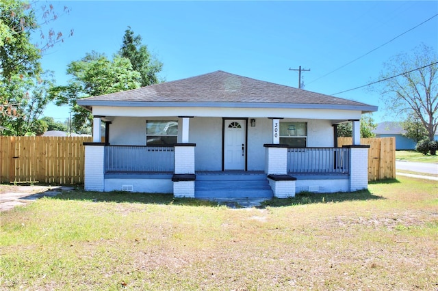
<svg viewBox="0 0 438 291"><path fill-rule="evenodd" d="M0 137L0 182L83 184L92 137Z"/></svg>

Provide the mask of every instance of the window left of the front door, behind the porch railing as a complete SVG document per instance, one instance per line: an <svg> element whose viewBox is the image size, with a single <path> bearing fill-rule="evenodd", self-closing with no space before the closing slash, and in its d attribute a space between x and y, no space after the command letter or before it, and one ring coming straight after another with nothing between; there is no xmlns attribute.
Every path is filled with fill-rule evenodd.
<svg viewBox="0 0 438 291"><path fill-rule="evenodd" d="M177 143L178 122L175 120L146 121L146 146L170 146Z"/></svg>

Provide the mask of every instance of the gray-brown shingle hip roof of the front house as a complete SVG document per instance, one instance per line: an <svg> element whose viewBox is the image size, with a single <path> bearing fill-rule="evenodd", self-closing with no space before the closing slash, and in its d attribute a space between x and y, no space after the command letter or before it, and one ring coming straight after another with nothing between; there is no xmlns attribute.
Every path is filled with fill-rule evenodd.
<svg viewBox="0 0 438 291"><path fill-rule="evenodd" d="M212 104L231 102L370 107L361 102L259 81L221 70L124 92L84 98L79 100L78 104L96 105L96 101L118 104L120 102L209 102Z"/></svg>

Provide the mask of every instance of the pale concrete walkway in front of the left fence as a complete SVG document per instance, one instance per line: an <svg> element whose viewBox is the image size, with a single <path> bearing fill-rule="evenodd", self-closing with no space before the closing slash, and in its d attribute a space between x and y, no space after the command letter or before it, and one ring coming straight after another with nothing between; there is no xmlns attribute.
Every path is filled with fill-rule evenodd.
<svg viewBox="0 0 438 291"><path fill-rule="evenodd" d="M0 193L0 211L7 211L15 206L24 206L41 197L53 197L62 191L72 191L71 186L16 186L14 191Z"/></svg>

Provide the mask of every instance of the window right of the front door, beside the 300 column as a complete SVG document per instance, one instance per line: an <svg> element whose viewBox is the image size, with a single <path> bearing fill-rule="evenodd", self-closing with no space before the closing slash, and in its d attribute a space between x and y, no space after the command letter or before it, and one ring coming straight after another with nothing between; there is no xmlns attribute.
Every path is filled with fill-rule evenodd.
<svg viewBox="0 0 438 291"><path fill-rule="evenodd" d="M306 122L280 122L280 143L291 148L306 148Z"/></svg>

